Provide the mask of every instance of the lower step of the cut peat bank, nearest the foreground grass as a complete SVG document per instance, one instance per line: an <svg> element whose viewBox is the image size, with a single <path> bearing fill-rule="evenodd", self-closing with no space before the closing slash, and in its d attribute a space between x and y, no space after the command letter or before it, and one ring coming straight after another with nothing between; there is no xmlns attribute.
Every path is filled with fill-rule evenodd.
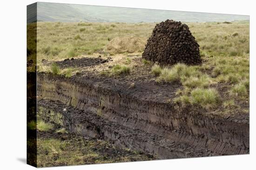
<svg viewBox="0 0 256 170"><path fill-rule="evenodd" d="M159 158L203 157L216 155L213 151L165 139L139 129L109 121L90 110L80 110L57 101L40 100L38 113L47 121L67 128L86 138L104 139L120 147L142 151ZM66 111L63 111L65 108Z"/></svg>

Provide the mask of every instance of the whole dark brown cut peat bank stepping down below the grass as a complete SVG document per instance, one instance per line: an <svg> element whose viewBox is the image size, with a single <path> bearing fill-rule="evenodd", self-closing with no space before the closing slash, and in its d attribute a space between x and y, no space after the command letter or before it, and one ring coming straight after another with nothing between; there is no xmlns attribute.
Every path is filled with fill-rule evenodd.
<svg viewBox="0 0 256 170"><path fill-rule="evenodd" d="M77 114L72 111L67 115L74 116L74 119L64 117L70 122L76 122L74 125L87 122L84 127L89 125L97 129L88 131L82 128L84 135L92 133L161 158L249 153L249 115L220 115L204 113L202 109L176 107L174 103L161 101L157 96L158 91L170 89L154 85L149 87L143 83L137 84L135 91L121 81L91 75L64 78L40 73L38 95L52 101L61 101L63 106L55 104L51 107L60 113L61 106L78 109ZM172 98L174 93L168 95ZM44 107L51 103L45 103ZM90 120L86 115L94 118ZM104 123L98 124L96 118ZM97 121L91 126L95 119ZM67 123L65 126L72 130L76 127L72 124Z"/></svg>

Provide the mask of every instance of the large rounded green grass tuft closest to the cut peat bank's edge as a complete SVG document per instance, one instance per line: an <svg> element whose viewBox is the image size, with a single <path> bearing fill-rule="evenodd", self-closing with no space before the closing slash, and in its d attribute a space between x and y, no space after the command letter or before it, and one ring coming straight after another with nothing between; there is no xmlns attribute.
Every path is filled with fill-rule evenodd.
<svg viewBox="0 0 256 170"><path fill-rule="evenodd" d="M191 100L193 104L199 104L209 110L216 107L219 101L219 93L214 88L195 88L191 91Z"/></svg>

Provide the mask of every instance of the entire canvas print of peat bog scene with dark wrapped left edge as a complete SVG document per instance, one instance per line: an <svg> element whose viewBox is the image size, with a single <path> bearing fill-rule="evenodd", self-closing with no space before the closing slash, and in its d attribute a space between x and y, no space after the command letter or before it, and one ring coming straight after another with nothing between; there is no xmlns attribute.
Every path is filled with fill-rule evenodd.
<svg viewBox="0 0 256 170"><path fill-rule="evenodd" d="M249 16L27 6L27 164L249 154Z"/></svg>

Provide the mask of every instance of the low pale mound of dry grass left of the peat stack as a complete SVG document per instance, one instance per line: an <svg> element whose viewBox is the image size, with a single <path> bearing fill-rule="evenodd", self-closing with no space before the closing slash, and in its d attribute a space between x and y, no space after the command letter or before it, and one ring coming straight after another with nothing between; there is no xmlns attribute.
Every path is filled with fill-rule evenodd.
<svg viewBox="0 0 256 170"><path fill-rule="evenodd" d="M145 49L147 43L146 38L141 37L116 37L109 41L105 51L110 53L134 53L142 52Z"/></svg>

